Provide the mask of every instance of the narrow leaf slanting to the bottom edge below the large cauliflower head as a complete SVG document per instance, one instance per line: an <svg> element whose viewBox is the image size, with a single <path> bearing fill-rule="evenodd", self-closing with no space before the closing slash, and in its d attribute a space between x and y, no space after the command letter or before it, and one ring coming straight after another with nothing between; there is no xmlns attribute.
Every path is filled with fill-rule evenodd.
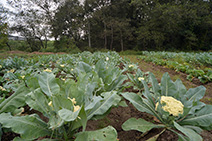
<svg viewBox="0 0 212 141"><path fill-rule="evenodd" d="M190 128L186 128L183 126L180 126L178 123L176 123L174 121L174 126L181 131L183 134L185 134L190 140L192 141L202 141L202 137L197 134L194 130L190 129Z"/></svg>

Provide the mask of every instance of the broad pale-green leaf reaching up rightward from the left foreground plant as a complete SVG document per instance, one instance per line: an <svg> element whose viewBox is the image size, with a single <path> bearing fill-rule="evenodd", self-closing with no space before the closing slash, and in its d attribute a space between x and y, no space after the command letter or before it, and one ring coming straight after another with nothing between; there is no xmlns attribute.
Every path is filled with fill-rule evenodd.
<svg viewBox="0 0 212 141"><path fill-rule="evenodd" d="M101 94L104 98L96 102L91 110L86 111L87 118L91 119L94 115L103 115L113 105L117 105L121 101L121 97L115 92L106 92ZM98 99L99 100L99 99Z"/></svg>

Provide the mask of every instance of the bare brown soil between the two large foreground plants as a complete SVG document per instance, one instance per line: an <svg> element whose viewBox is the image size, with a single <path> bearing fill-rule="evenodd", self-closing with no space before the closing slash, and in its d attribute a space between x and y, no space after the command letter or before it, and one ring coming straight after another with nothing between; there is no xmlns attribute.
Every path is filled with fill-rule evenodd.
<svg viewBox="0 0 212 141"><path fill-rule="evenodd" d="M127 121L129 118L143 118L149 122L156 122L154 121L154 117L143 112L139 112L132 104L127 102L128 107L117 107L113 108L108 116L101 120L91 120L88 121L88 125L86 130L96 130L108 125L113 126L117 133L118 139L120 141L145 141L157 134L159 134L163 129L152 129L149 131L148 134L143 135L141 132L131 130L131 131L124 131L122 129L122 124ZM165 135L165 138L164 138ZM178 137L175 134L172 134L169 131L165 131L159 138L158 141L177 141Z"/></svg>

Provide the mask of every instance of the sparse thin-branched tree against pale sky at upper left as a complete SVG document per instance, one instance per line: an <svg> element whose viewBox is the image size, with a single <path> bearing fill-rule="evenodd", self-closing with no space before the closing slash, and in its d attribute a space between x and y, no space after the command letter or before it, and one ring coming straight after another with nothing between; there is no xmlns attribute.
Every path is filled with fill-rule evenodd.
<svg viewBox="0 0 212 141"><path fill-rule="evenodd" d="M25 37L31 51L47 48L56 3L54 0L19 0L9 3L15 9L13 18L16 21L11 29Z"/></svg>

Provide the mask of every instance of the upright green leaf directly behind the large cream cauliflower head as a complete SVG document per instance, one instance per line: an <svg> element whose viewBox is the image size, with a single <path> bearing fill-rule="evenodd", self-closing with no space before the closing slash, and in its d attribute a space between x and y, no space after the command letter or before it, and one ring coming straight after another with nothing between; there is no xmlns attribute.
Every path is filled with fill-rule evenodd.
<svg viewBox="0 0 212 141"><path fill-rule="evenodd" d="M164 96L173 96L173 97L175 97L175 95L177 93L175 84L171 80L171 78L167 72L164 73L164 75L161 79L161 93Z"/></svg>

